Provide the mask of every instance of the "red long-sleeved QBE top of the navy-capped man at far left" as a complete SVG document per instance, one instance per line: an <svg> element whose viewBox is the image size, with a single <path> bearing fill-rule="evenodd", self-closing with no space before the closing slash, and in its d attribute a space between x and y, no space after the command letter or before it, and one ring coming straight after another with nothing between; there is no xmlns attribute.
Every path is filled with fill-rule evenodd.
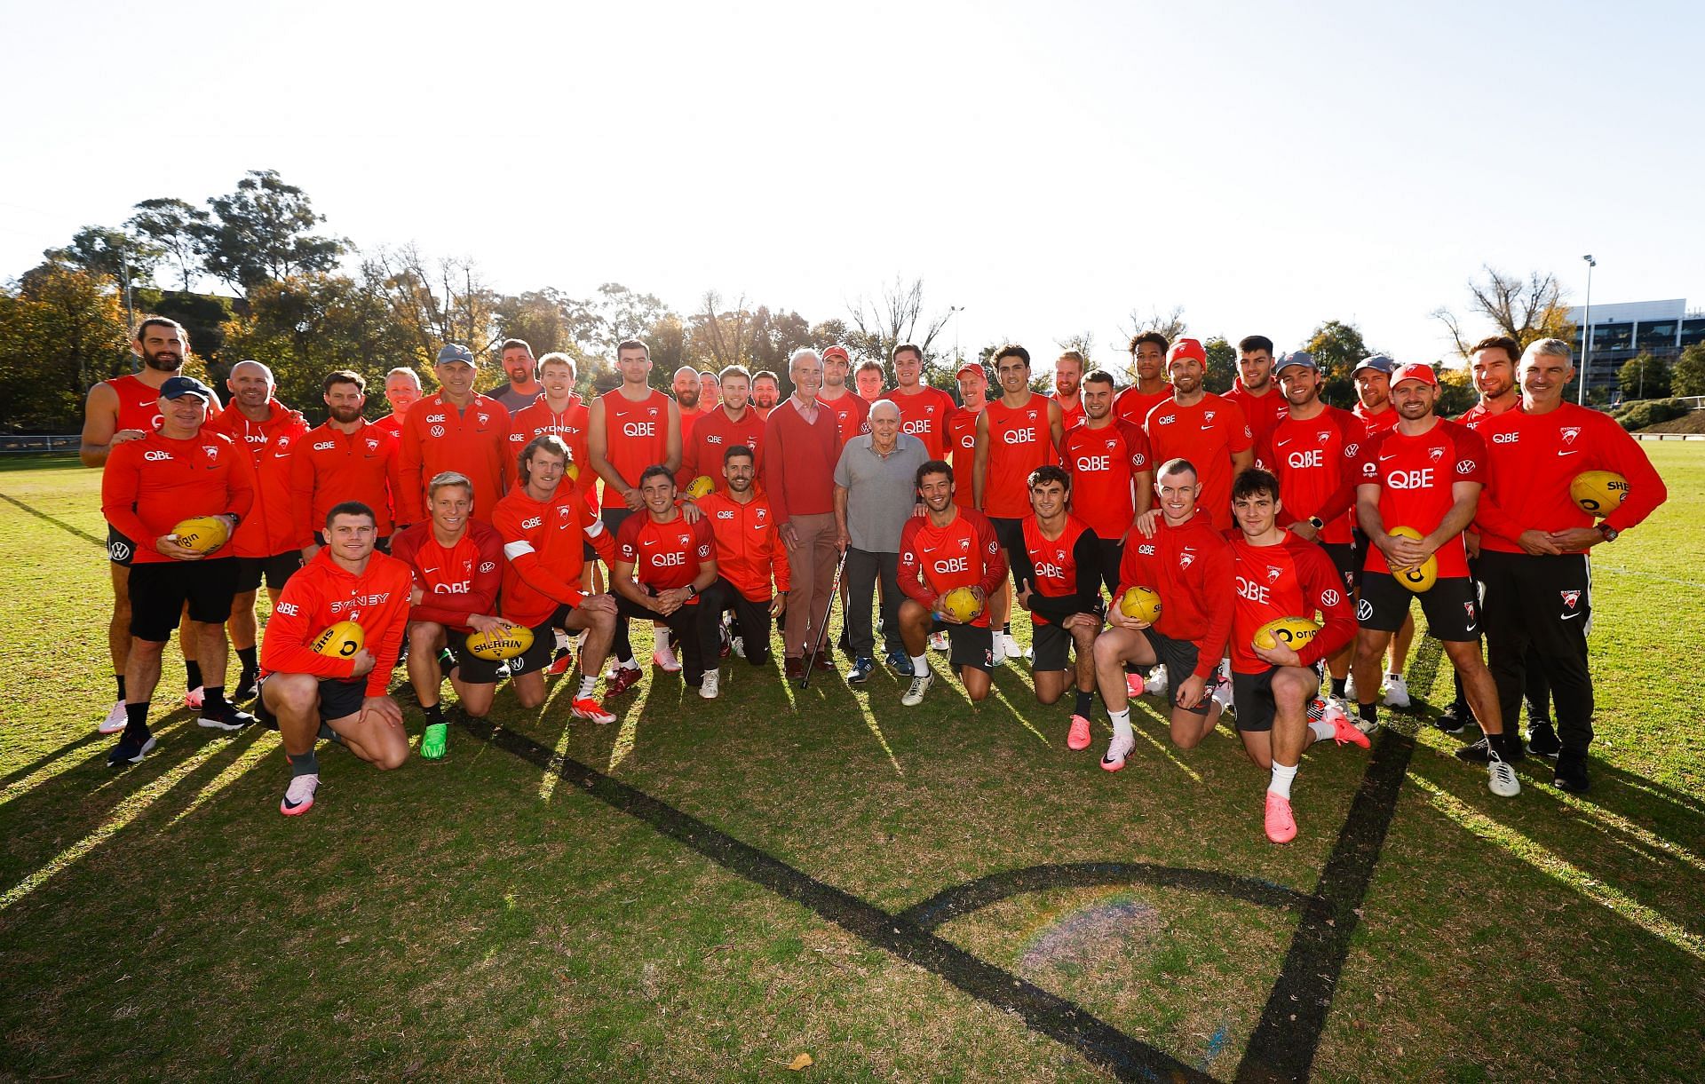
<svg viewBox="0 0 1705 1084"><path fill-rule="evenodd" d="M153 542L182 520L246 516L252 505L254 460L206 426L189 440L172 440L159 430L126 440L113 448L101 474L101 515L135 544L138 564L170 561ZM230 557L232 551L227 544L213 556Z"/></svg>

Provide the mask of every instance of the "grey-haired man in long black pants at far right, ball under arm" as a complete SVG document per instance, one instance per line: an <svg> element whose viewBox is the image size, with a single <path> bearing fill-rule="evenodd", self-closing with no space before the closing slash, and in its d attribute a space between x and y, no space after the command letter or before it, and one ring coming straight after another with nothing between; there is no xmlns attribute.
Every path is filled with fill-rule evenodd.
<svg viewBox="0 0 1705 1084"><path fill-rule="evenodd" d="M1591 786L1592 743L1587 552L1637 527L1669 493L1645 450L1621 426L1563 399L1574 375L1572 351L1562 339L1540 339L1523 353L1521 409L1478 430L1492 458L1492 481L1475 518L1487 651L1500 711L1504 719L1514 719L1521 709L1526 656L1529 646L1536 648L1557 695L1560 752L1553 782L1584 793ZM1569 484L1582 470L1615 470L1628 479L1621 505L1601 522L1569 496Z"/></svg>

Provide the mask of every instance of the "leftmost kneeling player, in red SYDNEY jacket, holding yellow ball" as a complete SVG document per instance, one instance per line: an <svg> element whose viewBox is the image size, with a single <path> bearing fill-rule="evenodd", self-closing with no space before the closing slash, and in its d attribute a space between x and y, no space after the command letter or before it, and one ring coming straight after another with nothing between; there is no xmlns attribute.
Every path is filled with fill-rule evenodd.
<svg viewBox="0 0 1705 1084"><path fill-rule="evenodd" d="M402 709L385 695L402 648L411 597L409 566L373 552L373 510L358 501L326 513L326 547L290 578L261 644L261 719L278 726L290 757L290 787L278 811L307 813L319 787L315 738L339 741L380 769L409 755ZM363 648L350 658L310 644L339 620L361 626Z"/></svg>

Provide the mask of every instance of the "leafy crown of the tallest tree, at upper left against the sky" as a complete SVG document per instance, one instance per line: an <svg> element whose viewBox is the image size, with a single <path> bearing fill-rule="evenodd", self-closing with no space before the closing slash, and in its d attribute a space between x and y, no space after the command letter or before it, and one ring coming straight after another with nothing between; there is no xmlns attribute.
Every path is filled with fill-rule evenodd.
<svg viewBox="0 0 1705 1084"><path fill-rule="evenodd" d="M208 199L211 215L186 228L208 274L249 291L266 281L329 271L344 242L310 234L326 222L309 194L273 169L251 169L237 191Z"/></svg>

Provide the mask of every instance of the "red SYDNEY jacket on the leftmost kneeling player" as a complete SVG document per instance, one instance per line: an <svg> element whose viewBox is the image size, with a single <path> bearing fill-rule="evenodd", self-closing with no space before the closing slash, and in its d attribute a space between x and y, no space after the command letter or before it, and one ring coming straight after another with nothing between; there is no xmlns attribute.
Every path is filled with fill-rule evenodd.
<svg viewBox="0 0 1705 1084"><path fill-rule="evenodd" d="M414 574L407 564L373 551L360 576L332 561L331 549L314 554L278 598L261 643L261 677L309 673L317 678L351 680L355 660L329 658L310 648L315 636L353 620L361 626L373 668L367 673L367 695L382 697L397 666L402 632L409 624L409 593Z"/></svg>

